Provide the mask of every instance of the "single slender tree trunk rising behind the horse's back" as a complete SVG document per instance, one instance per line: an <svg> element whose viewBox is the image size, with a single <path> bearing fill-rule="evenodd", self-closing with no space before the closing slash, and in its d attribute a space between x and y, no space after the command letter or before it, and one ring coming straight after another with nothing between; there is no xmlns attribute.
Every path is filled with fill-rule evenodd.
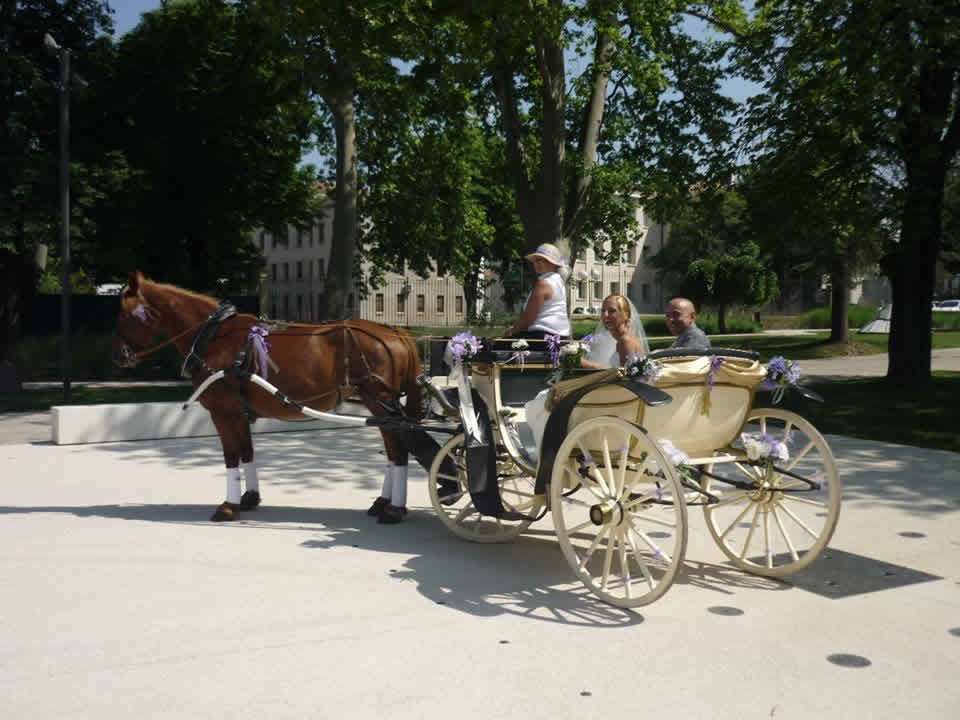
<svg viewBox="0 0 960 720"><path fill-rule="evenodd" d="M334 195L333 237L321 319L347 316L347 296L354 290L353 261L357 254L357 118L355 82L350 77L340 92L325 98L337 136L337 187ZM354 298L354 307L359 298Z"/></svg>

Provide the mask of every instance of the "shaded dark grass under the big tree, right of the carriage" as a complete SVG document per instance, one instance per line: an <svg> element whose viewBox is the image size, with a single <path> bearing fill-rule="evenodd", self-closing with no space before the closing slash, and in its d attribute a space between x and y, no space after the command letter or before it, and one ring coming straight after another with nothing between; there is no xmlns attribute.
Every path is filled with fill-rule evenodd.
<svg viewBox="0 0 960 720"><path fill-rule="evenodd" d="M811 384L825 402L788 392L777 407L793 410L822 433L960 452L956 398L960 373L935 372L926 387L906 387L885 378ZM757 394L757 407L770 406Z"/></svg>

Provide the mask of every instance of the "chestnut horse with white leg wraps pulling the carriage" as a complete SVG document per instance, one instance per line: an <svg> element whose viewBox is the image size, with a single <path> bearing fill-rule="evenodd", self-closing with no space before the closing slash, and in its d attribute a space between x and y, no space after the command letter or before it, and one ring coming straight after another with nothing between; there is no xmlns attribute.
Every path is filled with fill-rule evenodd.
<svg viewBox="0 0 960 720"><path fill-rule="evenodd" d="M167 340L148 350L158 335ZM331 410L357 395L374 416L421 410L417 347L406 331L365 320L318 325L273 323L237 314L232 306L189 290L130 274L121 292L117 317L118 362L132 365L160 347L173 344L185 358L184 374L198 388L218 370L233 370L213 382L198 401L223 445L227 497L210 518L234 520L260 504L257 469L250 438L252 417L303 419L294 400L314 410ZM246 373L246 375L244 374ZM286 397L248 381L259 374ZM399 522L406 514L407 447L403 433L381 428L388 464L383 491L367 511L379 522ZM246 492L240 494L241 469Z"/></svg>

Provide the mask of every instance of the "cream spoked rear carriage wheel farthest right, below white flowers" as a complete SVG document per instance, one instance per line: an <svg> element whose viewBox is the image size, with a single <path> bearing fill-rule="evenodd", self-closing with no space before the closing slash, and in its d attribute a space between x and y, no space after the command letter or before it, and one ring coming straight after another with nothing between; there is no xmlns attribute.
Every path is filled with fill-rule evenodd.
<svg viewBox="0 0 960 720"><path fill-rule="evenodd" d="M788 438L790 459L770 469L745 462L707 466L751 485L732 488L704 475L703 487L720 498L703 508L707 528L737 567L768 577L789 575L817 558L837 526L842 488L833 453L813 425L789 410L753 410L742 432ZM739 436L733 446L742 447Z"/></svg>

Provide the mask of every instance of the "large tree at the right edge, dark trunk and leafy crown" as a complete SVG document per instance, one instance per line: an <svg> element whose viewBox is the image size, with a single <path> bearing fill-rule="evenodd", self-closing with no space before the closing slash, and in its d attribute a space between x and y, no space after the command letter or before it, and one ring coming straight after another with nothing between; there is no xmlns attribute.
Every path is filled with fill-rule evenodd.
<svg viewBox="0 0 960 720"><path fill-rule="evenodd" d="M845 128L846 148L865 149L876 176L902 179L898 232L883 263L893 287L887 377L929 382L944 186L960 145L960 16L936 0L755 7L744 57L767 88L762 101L803 105L817 126Z"/></svg>

